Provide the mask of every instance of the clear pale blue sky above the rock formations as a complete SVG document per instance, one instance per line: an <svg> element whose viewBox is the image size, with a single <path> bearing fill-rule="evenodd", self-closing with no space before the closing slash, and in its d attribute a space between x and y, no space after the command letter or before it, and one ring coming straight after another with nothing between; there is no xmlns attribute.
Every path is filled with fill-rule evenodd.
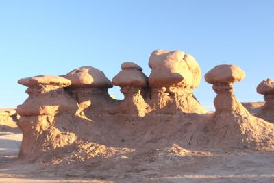
<svg viewBox="0 0 274 183"><path fill-rule="evenodd" d="M0 1L0 108L27 98L22 77L88 65L111 80L125 61L149 75L155 49L190 53L203 75L236 64L247 74L234 84L238 99L262 101L256 86L274 77L274 1ZM203 78L195 95L212 108Z"/></svg>

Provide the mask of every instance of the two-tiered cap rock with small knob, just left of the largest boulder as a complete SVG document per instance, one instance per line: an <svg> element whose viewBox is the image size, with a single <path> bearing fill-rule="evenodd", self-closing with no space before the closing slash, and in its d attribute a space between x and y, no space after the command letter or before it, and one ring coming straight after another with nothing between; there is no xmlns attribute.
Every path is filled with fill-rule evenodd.
<svg viewBox="0 0 274 183"><path fill-rule="evenodd" d="M124 62L121 64L120 71L112 79L112 83L116 86L140 86L145 88L148 86L147 76L142 73L142 68L133 62Z"/></svg>

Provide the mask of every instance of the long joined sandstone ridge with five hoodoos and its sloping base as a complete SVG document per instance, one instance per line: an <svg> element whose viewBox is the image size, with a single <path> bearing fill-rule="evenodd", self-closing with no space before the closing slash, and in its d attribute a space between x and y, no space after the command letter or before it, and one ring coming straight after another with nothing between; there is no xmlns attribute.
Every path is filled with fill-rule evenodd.
<svg viewBox="0 0 274 183"><path fill-rule="evenodd" d="M108 95L112 82L91 66L62 77L19 80L29 94L17 109L23 131L19 156L42 164L43 160L52 164L98 162L100 166L93 168L100 170L123 164L117 161L122 155L126 163L135 164L135 160L157 158L173 147L274 150L274 124L253 117L236 99L232 84L245 77L238 66L216 66L206 74L217 94L214 113L207 112L193 95L201 80L195 58L182 51L157 50L149 66L147 78L137 64L121 65L112 82L121 87L123 101ZM108 161L112 162L103 163Z"/></svg>

